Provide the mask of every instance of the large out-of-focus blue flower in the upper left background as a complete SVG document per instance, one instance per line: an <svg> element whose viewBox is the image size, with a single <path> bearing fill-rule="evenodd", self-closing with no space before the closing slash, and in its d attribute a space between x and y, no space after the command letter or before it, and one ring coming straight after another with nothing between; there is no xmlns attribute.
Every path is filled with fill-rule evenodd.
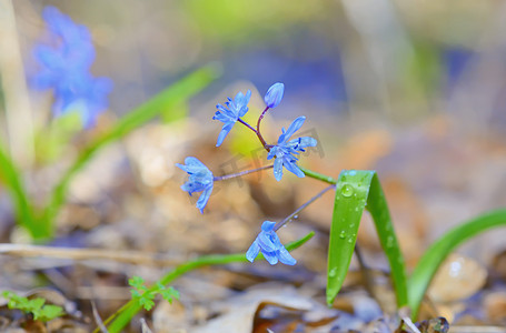
<svg viewBox="0 0 506 333"><path fill-rule="evenodd" d="M42 17L48 24L51 44L40 43L33 54L40 71L32 78L36 89L53 89L53 114L78 111L86 128L107 109L112 90L108 78L93 78L89 72L95 60L91 34L54 7L47 7Z"/></svg>

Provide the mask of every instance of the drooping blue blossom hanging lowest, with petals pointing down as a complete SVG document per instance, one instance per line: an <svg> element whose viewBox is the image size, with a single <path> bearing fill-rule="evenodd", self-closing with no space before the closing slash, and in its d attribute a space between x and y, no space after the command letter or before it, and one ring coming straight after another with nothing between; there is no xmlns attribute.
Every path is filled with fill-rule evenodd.
<svg viewBox="0 0 506 333"><path fill-rule="evenodd" d="M264 258L271 264L277 264L278 261L286 265L295 265L297 261L290 255L290 253L285 249L279 241L274 226L276 222L265 221L261 224L261 231L258 236L249 246L248 252L246 252L246 259L250 262L254 262L258 253L261 251Z"/></svg>

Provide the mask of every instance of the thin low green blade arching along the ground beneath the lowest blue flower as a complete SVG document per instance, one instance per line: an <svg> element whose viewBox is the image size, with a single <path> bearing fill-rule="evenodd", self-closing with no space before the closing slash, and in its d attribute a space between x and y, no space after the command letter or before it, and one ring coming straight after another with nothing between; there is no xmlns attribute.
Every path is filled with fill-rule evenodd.
<svg viewBox="0 0 506 333"><path fill-rule="evenodd" d="M311 231L304 238L291 242L287 244L285 248L288 251L292 251L299 246L301 246L304 243L309 241L315 233ZM258 254L258 258L262 258L261 253ZM163 285L167 285L178 279L179 276L188 273L189 271L200 269L202 266L209 266L209 265L225 265L229 263L235 263L235 262L247 262L248 260L246 259L245 253L236 253L236 254L228 254L228 255L205 255L200 256L196 260L186 262L166 275L163 275L159 282ZM156 285L156 283L155 283ZM156 287L156 286L155 286ZM153 287L150 289L152 291ZM108 330L110 333L116 333L116 332L121 332L123 327L132 320L132 317L141 310L142 307L135 301L129 301L127 304L125 304L120 310L118 310L112 316L107 319L103 323L110 325L108 326ZM95 332L98 332L95 330Z"/></svg>

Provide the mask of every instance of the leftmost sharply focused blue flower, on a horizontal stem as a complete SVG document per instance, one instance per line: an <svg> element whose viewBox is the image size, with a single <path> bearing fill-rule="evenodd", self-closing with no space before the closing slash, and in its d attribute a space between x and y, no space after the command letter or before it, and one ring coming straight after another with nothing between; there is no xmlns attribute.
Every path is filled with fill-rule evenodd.
<svg viewBox="0 0 506 333"><path fill-rule="evenodd" d="M197 201L197 208L200 210L200 213L204 213L204 208L212 192L212 172L196 158L186 158L185 164L177 163L176 165L190 175L188 181L181 185L181 190L188 192L190 195L194 192L202 192Z"/></svg>

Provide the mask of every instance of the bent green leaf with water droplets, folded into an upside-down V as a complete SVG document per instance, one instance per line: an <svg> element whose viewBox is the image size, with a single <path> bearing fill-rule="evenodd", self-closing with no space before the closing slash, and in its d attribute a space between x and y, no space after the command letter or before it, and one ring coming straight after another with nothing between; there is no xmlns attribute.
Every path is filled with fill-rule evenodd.
<svg viewBox="0 0 506 333"><path fill-rule="evenodd" d="M375 171L355 170L343 171L336 184L328 250L327 303L334 302L345 281L366 204L390 264L397 305L404 306L408 302L406 270L381 185Z"/></svg>

